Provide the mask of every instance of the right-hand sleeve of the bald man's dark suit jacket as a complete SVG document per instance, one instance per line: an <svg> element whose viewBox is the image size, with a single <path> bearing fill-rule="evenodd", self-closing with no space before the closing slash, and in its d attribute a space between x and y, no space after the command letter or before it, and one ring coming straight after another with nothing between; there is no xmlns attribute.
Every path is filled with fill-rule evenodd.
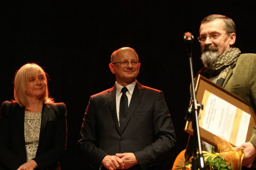
<svg viewBox="0 0 256 170"><path fill-rule="evenodd" d="M158 94L154 102L154 131L156 140L143 150L135 152L135 156L139 161L141 169L166 159L170 151L176 145L176 135L173 126L172 119L168 112L164 95L162 91L158 91Z"/></svg>

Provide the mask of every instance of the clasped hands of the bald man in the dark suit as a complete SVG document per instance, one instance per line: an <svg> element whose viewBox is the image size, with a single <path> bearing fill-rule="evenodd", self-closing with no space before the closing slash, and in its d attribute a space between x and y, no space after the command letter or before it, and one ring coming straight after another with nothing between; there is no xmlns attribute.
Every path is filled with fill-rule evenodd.
<svg viewBox="0 0 256 170"><path fill-rule="evenodd" d="M138 163L139 162L133 153L107 155L102 160L103 166L110 170L128 169Z"/></svg>

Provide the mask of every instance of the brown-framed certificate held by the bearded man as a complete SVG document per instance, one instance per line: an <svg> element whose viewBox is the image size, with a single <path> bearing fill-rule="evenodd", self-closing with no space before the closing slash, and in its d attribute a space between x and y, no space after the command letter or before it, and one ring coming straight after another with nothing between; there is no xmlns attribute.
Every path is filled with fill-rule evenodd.
<svg viewBox="0 0 256 170"><path fill-rule="evenodd" d="M250 103L201 75L195 90L198 104L203 105L198 111L203 141L216 146L214 136L219 136L235 147L250 140L256 126ZM193 135L191 121L186 121L184 131Z"/></svg>

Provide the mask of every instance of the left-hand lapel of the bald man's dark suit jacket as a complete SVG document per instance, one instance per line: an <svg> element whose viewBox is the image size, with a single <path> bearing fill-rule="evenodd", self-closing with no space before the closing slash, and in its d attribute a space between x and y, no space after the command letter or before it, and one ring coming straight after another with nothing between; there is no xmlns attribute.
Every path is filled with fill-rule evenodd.
<svg viewBox="0 0 256 170"><path fill-rule="evenodd" d="M112 87L109 90L109 93L106 94L106 99L108 100L110 113L113 118L116 129L121 134L119 124L118 124L118 119L117 119L117 113L116 113L116 86Z"/></svg>

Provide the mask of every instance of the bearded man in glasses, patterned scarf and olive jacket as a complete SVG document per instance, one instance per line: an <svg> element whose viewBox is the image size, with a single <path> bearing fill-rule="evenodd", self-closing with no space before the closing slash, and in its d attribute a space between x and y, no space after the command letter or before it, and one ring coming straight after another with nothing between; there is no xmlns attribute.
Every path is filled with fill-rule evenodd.
<svg viewBox="0 0 256 170"><path fill-rule="evenodd" d="M198 72L226 90L249 102L256 111L256 54L241 54L234 47L236 26L233 20L224 15L209 15L201 21L198 40L201 45L201 60L204 67ZM197 78L195 79L197 80ZM190 135L186 150L176 158L193 156L193 136ZM256 157L256 134L250 141L234 149L244 149L243 168L251 168ZM211 152L211 145L202 141L202 150ZM185 153L185 154L184 154ZM184 161L183 161L184 164Z"/></svg>

